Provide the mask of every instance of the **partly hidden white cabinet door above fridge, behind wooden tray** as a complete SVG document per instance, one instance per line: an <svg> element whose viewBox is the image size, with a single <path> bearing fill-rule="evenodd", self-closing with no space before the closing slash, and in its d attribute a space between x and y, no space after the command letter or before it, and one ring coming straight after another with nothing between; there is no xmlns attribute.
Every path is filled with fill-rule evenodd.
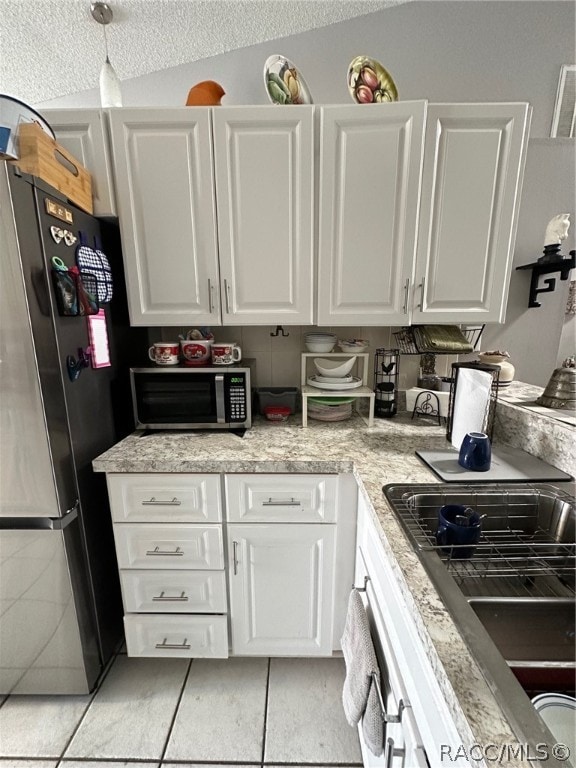
<svg viewBox="0 0 576 768"><path fill-rule="evenodd" d="M92 176L95 216L117 216L107 115L101 109L43 109L56 141Z"/></svg>

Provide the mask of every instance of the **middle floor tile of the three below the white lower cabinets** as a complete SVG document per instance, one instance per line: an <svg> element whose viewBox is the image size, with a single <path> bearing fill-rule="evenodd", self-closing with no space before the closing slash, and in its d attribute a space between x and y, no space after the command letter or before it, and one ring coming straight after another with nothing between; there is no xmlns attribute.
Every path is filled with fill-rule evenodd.
<svg viewBox="0 0 576 768"><path fill-rule="evenodd" d="M196 659L165 760L262 758L268 659Z"/></svg>

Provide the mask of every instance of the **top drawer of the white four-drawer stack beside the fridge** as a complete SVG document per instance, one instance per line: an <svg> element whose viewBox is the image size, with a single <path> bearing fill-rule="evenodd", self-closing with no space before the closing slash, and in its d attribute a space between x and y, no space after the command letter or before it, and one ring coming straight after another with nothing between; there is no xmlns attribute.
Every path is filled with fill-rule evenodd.
<svg viewBox="0 0 576 768"><path fill-rule="evenodd" d="M217 523L222 520L220 475L107 475L116 522Z"/></svg>

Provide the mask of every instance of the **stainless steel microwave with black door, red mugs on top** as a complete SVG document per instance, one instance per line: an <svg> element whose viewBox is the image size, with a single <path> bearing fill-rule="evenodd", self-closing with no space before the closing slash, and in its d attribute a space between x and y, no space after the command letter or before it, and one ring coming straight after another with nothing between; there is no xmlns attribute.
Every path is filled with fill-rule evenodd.
<svg viewBox="0 0 576 768"><path fill-rule="evenodd" d="M252 426L255 361L228 366L130 369L136 429L246 429Z"/></svg>

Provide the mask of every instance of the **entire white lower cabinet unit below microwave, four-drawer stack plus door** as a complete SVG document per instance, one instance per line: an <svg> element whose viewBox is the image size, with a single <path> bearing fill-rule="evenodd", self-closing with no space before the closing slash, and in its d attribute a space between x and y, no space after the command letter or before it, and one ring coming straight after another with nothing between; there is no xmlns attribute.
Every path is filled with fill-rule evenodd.
<svg viewBox="0 0 576 768"><path fill-rule="evenodd" d="M115 473L107 483L130 656L340 650L352 474Z"/></svg>

